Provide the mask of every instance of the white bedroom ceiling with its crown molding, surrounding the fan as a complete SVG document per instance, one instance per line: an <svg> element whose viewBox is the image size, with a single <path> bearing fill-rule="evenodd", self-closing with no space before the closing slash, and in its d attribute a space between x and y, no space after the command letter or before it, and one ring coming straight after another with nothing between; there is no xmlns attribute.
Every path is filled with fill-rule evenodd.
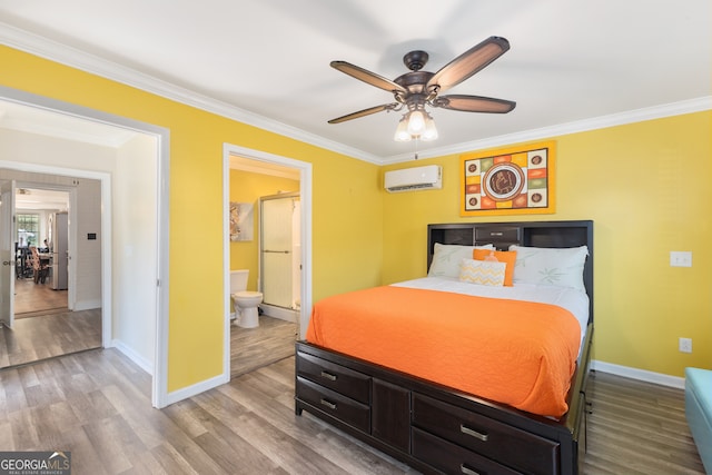
<svg viewBox="0 0 712 475"><path fill-rule="evenodd" d="M329 62L394 79L490 36L511 50L448 93L516 109L435 109L422 157L712 107L710 0L0 0L3 43L380 164L413 156L398 113L327 120L393 97Z"/></svg>

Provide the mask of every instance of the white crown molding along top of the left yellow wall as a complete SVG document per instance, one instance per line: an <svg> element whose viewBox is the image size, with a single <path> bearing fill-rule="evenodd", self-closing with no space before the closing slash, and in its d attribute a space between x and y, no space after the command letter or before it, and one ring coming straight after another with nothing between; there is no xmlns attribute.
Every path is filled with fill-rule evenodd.
<svg viewBox="0 0 712 475"><path fill-rule="evenodd" d="M254 126L280 136L289 137L306 144L358 158L375 165L382 165L382 159L353 147L325 139L296 127L287 126L276 120L230 106L226 102L199 95L189 89L138 72L134 69L117 65L95 55L87 53L67 44L49 40L34 33L0 22L0 43L10 48L59 62L91 75L100 76L126 86L130 86L156 96L164 97L187 106L195 107L238 122Z"/></svg>

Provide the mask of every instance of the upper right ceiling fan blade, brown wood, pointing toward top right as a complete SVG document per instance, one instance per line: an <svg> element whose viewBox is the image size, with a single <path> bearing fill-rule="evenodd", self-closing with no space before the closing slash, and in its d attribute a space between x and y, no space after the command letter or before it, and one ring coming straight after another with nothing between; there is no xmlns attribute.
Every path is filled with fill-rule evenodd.
<svg viewBox="0 0 712 475"><path fill-rule="evenodd" d="M481 71L508 49L510 42L506 39L490 37L441 68L427 81L426 90L436 88L438 92L443 92Z"/></svg>

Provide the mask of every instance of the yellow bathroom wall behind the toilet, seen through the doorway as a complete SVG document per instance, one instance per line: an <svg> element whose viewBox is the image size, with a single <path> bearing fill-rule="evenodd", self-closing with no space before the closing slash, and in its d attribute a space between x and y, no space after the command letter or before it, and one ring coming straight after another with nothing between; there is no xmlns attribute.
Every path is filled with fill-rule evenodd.
<svg viewBox="0 0 712 475"><path fill-rule="evenodd" d="M259 197L279 191L299 191L299 180L230 170L230 201L253 204L253 240L230 243L230 270L249 269L248 290L257 290L259 275Z"/></svg>

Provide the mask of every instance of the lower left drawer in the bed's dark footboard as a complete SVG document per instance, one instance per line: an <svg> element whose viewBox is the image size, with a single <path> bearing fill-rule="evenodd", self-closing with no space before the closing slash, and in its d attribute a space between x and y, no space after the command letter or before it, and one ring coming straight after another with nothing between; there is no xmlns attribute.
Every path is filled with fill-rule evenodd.
<svg viewBox="0 0 712 475"><path fill-rule="evenodd" d="M370 433L370 409L365 404L340 395L332 389L297 376L297 398L304 403L354 426L366 434Z"/></svg>

